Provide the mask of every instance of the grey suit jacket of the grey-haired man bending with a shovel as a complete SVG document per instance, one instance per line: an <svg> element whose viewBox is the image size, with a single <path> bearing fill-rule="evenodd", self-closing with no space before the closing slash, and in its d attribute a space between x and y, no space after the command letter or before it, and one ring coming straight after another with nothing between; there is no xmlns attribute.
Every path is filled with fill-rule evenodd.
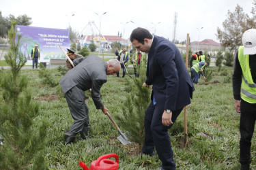
<svg viewBox="0 0 256 170"><path fill-rule="evenodd" d="M100 88L106 82L106 62L96 55L91 55L84 58L76 58L74 66L59 82L64 94L74 86L83 91L91 88L91 97L96 108L102 109ZM84 99L81 99L81 101L84 101Z"/></svg>

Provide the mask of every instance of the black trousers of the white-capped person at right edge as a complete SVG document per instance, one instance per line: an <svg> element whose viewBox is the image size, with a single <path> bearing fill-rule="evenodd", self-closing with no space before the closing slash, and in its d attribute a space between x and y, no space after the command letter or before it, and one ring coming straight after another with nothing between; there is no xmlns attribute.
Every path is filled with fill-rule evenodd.
<svg viewBox="0 0 256 170"><path fill-rule="evenodd" d="M256 103L241 101L240 117L240 163L251 163L251 139L253 137L256 120Z"/></svg>

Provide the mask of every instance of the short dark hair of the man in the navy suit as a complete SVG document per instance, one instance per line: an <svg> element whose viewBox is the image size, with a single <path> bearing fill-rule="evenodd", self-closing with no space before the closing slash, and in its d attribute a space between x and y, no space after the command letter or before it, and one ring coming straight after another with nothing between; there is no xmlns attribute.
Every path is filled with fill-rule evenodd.
<svg viewBox="0 0 256 170"><path fill-rule="evenodd" d="M137 29L134 29L132 31L132 34L130 35L130 41L132 42L134 39L137 39L137 41L141 44L144 44L144 39L152 39L153 35L148 31L147 29L143 29L141 27L138 27Z"/></svg>

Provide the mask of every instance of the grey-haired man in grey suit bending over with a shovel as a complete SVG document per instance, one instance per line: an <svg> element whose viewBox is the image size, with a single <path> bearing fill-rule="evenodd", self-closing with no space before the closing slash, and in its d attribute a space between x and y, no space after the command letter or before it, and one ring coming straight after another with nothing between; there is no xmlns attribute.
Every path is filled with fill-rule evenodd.
<svg viewBox="0 0 256 170"><path fill-rule="evenodd" d="M97 109L101 109L104 114L109 112L102 104L100 88L106 82L106 75L115 75L120 68L117 59L104 62L96 55L74 59L74 68L68 71L59 82L74 119L70 131L65 133L66 143L73 142L77 133L81 133L82 139L86 139L89 135L90 126L88 107L85 103L85 90L91 88L91 98Z"/></svg>

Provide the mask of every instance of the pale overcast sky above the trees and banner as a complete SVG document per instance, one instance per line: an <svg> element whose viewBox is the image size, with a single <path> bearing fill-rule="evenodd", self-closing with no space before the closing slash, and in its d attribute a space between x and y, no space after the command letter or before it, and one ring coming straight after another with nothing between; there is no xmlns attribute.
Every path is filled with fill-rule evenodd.
<svg viewBox="0 0 256 170"><path fill-rule="evenodd" d="M70 26L80 34L92 21L100 29L100 16L95 13L106 12L101 20L102 35L117 35L119 31L128 38L133 29L144 27L151 33L156 29L156 35L171 40L176 12L176 39L184 41L189 33L190 41L197 41L198 37L199 41L218 41L217 27L223 28L228 10L234 12L237 4L251 16L253 0L0 0L0 10L4 17L27 14L33 27L67 29L70 21Z"/></svg>

